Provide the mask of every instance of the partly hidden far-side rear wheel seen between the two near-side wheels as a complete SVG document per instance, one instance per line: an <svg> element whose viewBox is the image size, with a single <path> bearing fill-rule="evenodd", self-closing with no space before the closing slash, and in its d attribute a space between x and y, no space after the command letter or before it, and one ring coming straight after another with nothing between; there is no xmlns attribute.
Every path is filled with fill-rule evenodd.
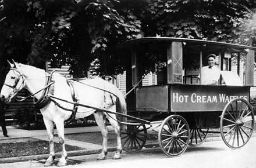
<svg viewBox="0 0 256 168"><path fill-rule="evenodd" d="M195 147L197 145L204 143L204 141L208 136L208 131L209 129L198 129L198 128L190 129L189 145L191 147Z"/></svg>

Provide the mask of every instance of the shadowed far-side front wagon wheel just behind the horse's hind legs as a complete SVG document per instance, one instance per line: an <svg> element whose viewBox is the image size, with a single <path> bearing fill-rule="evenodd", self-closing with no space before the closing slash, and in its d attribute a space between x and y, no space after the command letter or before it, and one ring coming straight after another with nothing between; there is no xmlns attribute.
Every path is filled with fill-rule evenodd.
<svg viewBox="0 0 256 168"><path fill-rule="evenodd" d="M121 132L122 147L126 152L134 153L144 147L147 140L147 129L144 124L128 125Z"/></svg>

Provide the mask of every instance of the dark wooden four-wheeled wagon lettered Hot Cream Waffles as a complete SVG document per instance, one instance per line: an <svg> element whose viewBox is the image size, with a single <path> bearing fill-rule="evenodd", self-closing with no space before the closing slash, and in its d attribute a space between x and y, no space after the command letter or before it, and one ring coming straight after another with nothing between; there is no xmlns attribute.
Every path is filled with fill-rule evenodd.
<svg viewBox="0 0 256 168"><path fill-rule="evenodd" d="M182 154L188 145L201 144L209 133L221 133L230 148L248 142L254 127L249 102L256 48L169 37L133 39L119 48L128 58L127 92L134 88L127 95L128 115L148 120L122 132L126 151L144 147L147 125L159 126L159 146L171 157ZM218 85L201 85L198 75L211 53L217 56L221 78ZM149 71L155 72L157 85L143 86L142 78Z"/></svg>

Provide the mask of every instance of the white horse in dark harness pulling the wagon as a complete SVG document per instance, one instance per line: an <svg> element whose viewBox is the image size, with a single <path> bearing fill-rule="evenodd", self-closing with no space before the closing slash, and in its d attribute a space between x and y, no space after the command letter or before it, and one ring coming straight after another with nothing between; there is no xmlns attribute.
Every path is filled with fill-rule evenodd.
<svg viewBox="0 0 256 168"><path fill-rule="evenodd" d="M45 87L45 81L49 74L44 70L32 67L30 65L18 64L13 61L10 63L10 71L6 75L5 84L1 90L1 99L5 103L9 103L10 100L23 88L29 90L31 93L36 93L38 90ZM63 100L73 101L70 94L70 87L67 85L66 78L58 73L52 75L54 83L54 94L53 96L62 98ZM118 111L120 113L126 113L126 101L120 90L109 82L104 81L101 78L86 79L81 82L87 83L88 85L95 86L104 90L83 85L79 82L73 82L74 92L77 100L80 104L90 105L91 107L97 107L106 109L109 111ZM111 95L111 93L113 95ZM42 96L42 92L34 95L35 98L39 99ZM117 96L117 97L116 97ZM62 107L73 109L73 104L66 103L63 101L56 100ZM116 109L119 108L119 109ZM54 123L58 132L59 143L62 144L61 159L59 159L57 166L66 165L67 153L65 150L65 138L64 138L64 121L69 119L72 115L71 111L65 111L59 108L54 102L50 101L45 107L40 109L44 119L45 127L49 137L49 158L45 162L45 166L51 166L54 162ZM97 122L97 125L101 129L103 142L102 152L99 154L99 160L105 159L107 155L107 140L108 140L108 129L105 125L105 117L109 120L115 133L117 135L117 151L113 156L113 159L120 159L120 153L122 152L122 144L120 138L120 126L116 120L116 115L105 114L102 111L96 111L93 108L78 107L76 118L84 118L93 114Z"/></svg>

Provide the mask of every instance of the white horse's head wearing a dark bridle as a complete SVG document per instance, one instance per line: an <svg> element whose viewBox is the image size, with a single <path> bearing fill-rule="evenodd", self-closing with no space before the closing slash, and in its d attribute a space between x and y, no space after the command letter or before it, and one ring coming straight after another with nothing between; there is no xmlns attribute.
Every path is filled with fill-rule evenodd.
<svg viewBox="0 0 256 168"><path fill-rule="evenodd" d="M23 89L25 84L24 77L19 70L19 64L17 64L14 60L12 60L12 63L8 61L8 64L10 70L6 75L5 83L2 86L0 94L1 100L5 103L10 103L10 100L12 100L12 98Z"/></svg>

